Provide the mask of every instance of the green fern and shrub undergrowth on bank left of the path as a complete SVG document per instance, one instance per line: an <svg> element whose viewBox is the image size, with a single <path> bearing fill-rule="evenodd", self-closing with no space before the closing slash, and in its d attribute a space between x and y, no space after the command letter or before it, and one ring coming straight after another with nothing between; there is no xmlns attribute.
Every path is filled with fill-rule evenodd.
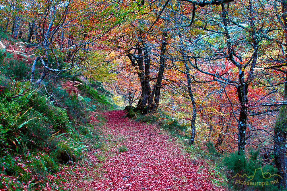
<svg viewBox="0 0 287 191"><path fill-rule="evenodd" d="M49 173L100 147L97 111L114 105L81 82L30 83L27 62L4 51L0 63L0 190L41 190Z"/></svg>

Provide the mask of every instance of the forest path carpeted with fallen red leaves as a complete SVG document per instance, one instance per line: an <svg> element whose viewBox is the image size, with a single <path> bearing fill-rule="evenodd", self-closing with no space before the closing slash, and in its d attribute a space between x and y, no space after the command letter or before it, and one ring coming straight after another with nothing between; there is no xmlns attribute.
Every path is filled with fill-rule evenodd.
<svg viewBox="0 0 287 191"><path fill-rule="evenodd" d="M50 175L44 190L224 190L204 161L195 161L177 137L155 125L103 113L101 146L86 160Z"/></svg>

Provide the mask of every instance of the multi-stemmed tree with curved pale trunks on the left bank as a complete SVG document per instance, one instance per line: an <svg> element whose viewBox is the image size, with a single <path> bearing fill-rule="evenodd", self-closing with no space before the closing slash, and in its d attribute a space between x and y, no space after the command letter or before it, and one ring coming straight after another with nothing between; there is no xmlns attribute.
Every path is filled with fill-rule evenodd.
<svg viewBox="0 0 287 191"><path fill-rule="evenodd" d="M117 10L117 7L102 1L87 1L85 3L73 1L46 2L43 14L39 16L40 21L37 27L41 39L39 42L41 51L33 62L31 80L34 80L37 61L42 64L43 72L36 83L41 83L49 72L59 74L78 65L85 58L79 53L81 51L85 52L87 45L93 46L96 40L102 38L123 21L123 17L113 16L114 12L121 12L121 10ZM102 15L96 15L98 12L102 12ZM127 12L124 14L127 14ZM102 18L106 18L106 22L101 23ZM67 31L65 36L64 29ZM61 34L59 34L59 31L62 31ZM60 42L56 41L57 35L62 35ZM67 43L65 49L63 43ZM64 57L63 62L69 66L63 69L60 68L58 59L60 56ZM54 66L53 63L50 63L49 57L54 59Z"/></svg>

